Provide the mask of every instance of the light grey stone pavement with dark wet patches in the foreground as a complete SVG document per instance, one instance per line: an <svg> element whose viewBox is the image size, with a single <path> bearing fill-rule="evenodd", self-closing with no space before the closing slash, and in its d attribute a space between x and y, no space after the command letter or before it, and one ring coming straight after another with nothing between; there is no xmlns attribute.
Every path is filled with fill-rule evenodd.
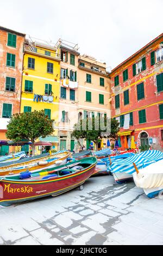
<svg viewBox="0 0 163 256"><path fill-rule="evenodd" d="M0 245L163 245L163 200L111 175L26 204L0 206Z"/></svg>

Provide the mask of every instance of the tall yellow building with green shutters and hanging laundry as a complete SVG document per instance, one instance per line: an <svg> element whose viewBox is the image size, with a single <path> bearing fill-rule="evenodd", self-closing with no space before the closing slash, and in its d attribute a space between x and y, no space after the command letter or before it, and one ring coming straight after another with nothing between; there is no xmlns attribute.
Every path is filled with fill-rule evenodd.
<svg viewBox="0 0 163 256"><path fill-rule="evenodd" d="M60 50L52 43L26 39L22 78L21 113L45 110L58 125L60 92ZM40 141L53 143L58 149L58 131ZM39 148L41 150L41 148ZM41 153L41 152L38 152Z"/></svg>

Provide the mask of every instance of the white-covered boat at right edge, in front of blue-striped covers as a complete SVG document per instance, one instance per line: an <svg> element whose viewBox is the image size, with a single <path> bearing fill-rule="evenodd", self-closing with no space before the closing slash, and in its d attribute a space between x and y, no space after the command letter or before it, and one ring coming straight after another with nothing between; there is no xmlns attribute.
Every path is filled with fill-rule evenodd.
<svg viewBox="0 0 163 256"><path fill-rule="evenodd" d="M149 198L153 198L159 194L162 199L163 194L163 159L150 164L149 166L137 169L134 163L136 172L133 173L135 185L143 188L145 194Z"/></svg>

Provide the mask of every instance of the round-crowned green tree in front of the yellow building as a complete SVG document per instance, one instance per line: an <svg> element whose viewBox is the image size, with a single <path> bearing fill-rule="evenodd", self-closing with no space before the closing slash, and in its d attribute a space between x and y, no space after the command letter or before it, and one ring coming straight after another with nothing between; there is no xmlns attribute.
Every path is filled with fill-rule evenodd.
<svg viewBox="0 0 163 256"><path fill-rule="evenodd" d="M8 131L5 133L8 139L21 141L27 139L32 142L32 154L35 154L34 142L40 136L46 137L54 132L54 120L49 119L43 110L12 115Z"/></svg>

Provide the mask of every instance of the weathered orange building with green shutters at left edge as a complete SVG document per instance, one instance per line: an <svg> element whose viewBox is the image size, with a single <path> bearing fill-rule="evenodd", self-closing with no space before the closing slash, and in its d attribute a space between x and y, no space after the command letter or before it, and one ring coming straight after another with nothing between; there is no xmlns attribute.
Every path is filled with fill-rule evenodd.
<svg viewBox="0 0 163 256"><path fill-rule="evenodd" d="M0 27L0 155L8 154L7 124L20 113L25 34Z"/></svg>

